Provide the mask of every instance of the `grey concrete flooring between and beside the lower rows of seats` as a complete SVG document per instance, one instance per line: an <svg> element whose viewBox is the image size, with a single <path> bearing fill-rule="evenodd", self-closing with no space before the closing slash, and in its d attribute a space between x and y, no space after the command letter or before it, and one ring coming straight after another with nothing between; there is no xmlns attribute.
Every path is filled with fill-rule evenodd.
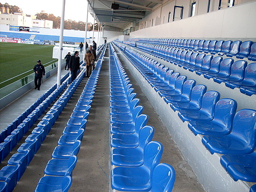
<svg viewBox="0 0 256 192"><path fill-rule="evenodd" d="M93 98L92 108L90 110L90 115L88 117L88 122L84 132L81 149L77 156L78 162L76 164L76 168L73 171L73 183L69 191L104 192L111 190L109 182L111 166L109 163L110 143L108 49L106 49L104 60L105 61L103 61L102 64L102 70L99 75L95 96ZM144 93L140 89L140 86L133 79L132 74L129 73L124 63L123 65L131 80L131 83L133 84L135 89L134 92L137 93L137 98L141 100L140 105L144 106L143 113L149 116L148 125L151 125L155 128L153 140L159 141L163 144L164 149L161 163L168 163L172 165L176 171L176 181L173 191L203 192L204 189L202 188L201 184L198 183L198 180L189 164L183 159L175 142L172 140L172 137L170 137L166 127L163 125L163 122L161 122L159 119L157 113L154 111L154 108L145 97ZM54 84L56 78L49 78L48 81ZM44 176L44 168L47 162L51 159L52 151L57 146L58 139L61 136L71 113L73 112L73 108L75 107L86 82L87 78L84 78L83 81L81 81L81 84L64 108L64 111L57 119L46 140L44 140L44 143L41 145L41 148L38 150L32 162L27 167L23 177L21 177L20 181L17 183L17 186L14 190L15 192L32 192L35 190L38 180ZM44 88L47 90L46 82L41 87L41 93L44 93ZM22 111L18 112L15 110L15 108L21 108L20 106L24 105L23 107L25 110L29 105L33 103L33 101L39 97L39 95L37 95L38 92L38 90L31 90L24 96L17 99L11 105L8 105L7 108L1 110L1 127L5 123L2 123L2 119L8 118L10 113L13 113L12 116L16 118ZM26 102L28 103L25 104ZM41 116L41 118L42 117L43 116ZM9 120L11 122L13 119L10 117ZM39 121L40 119L38 122ZM34 127L38 122L35 123ZM29 133L27 135L29 135ZM23 138L23 142L26 137ZM20 141L16 148L9 154L6 160L2 162L0 168L6 165L7 160L12 156L12 154L16 153L17 148L21 145L22 141Z"/></svg>

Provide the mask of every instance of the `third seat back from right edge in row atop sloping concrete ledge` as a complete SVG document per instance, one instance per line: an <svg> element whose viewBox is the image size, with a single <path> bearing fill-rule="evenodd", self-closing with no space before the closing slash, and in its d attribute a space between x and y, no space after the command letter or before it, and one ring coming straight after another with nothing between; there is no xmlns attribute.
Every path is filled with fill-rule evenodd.
<svg viewBox="0 0 256 192"><path fill-rule="evenodd" d="M206 93L204 93L204 96L202 98L201 111L204 111L208 114L213 114L215 105L219 99L220 99L219 92L207 91Z"/></svg>

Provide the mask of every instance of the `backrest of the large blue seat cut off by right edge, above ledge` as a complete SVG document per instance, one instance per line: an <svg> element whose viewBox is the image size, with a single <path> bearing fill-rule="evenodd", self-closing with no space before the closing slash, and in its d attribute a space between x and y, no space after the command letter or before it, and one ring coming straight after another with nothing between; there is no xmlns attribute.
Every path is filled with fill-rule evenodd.
<svg viewBox="0 0 256 192"><path fill-rule="evenodd" d="M254 149L256 145L256 111L253 109L241 109L233 120L231 134L243 141L247 141L247 148Z"/></svg>

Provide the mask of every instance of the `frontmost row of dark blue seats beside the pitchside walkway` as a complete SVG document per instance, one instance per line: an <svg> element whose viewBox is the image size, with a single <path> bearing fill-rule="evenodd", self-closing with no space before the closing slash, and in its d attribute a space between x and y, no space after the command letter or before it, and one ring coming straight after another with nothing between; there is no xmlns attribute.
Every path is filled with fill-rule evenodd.
<svg viewBox="0 0 256 192"><path fill-rule="evenodd" d="M65 76L61 78L61 84L67 79L69 76L69 73L67 73ZM57 88L57 83L52 85L41 97L39 97L32 105L29 106L23 113L21 113L19 116L17 116L16 119L12 121L6 128L3 129L3 131L0 133L0 143L2 143L7 136L11 134L12 131L17 129L17 127L23 123L23 121L32 115L32 111L34 111L42 102L46 101L46 99L49 97L51 98L50 101L52 101L53 98L56 98L59 93L55 92L52 94L54 90ZM53 96L52 96L53 95ZM55 97L56 96L56 97ZM47 99L49 100L49 99Z"/></svg>

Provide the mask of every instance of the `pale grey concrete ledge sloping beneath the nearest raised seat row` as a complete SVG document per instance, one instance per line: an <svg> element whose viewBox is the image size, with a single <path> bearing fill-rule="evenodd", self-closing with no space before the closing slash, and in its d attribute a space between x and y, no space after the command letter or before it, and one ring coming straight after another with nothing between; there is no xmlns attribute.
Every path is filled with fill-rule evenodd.
<svg viewBox="0 0 256 192"><path fill-rule="evenodd" d="M178 118L177 112L174 112L164 102L131 62L123 54L120 54L120 57L128 64L128 69L134 75L143 93L166 125L169 134L177 143L178 148L192 167L204 189L211 192L249 191L250 188L247 183L241 180L236 182L225 172L220 163L220 154L210 154L201 143L202 136L195 136L187 127L187 122L183 123ZM166 66L169 67L168 65ZM177 71L176 69L174 70ZM242 94L240 93L240 95Z"/></svg>

